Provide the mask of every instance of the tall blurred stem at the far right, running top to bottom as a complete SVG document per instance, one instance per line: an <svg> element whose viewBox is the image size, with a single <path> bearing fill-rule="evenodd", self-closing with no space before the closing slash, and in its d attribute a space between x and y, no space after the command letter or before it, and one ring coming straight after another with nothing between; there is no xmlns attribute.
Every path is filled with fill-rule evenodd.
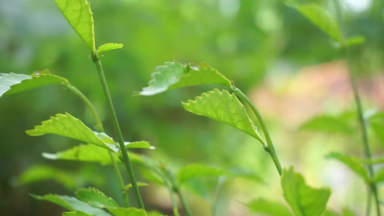
<svg viewBox="0 0 384 216"><path fill-rule="evenodd" d="M335 9L336 9L337 20L339 23L341 47L343 48L344 55L348 60L349 78L350 78L353 96L354 96L354 100L355 100L357 111L358 111L359 123L360 123L360 128L361 128L361 136L362 136L363 146L364 146L364 152L365 152L366 158L371 160L372 154L371 154L371 150L369 148L369 141L368 141L368 135L367 135L367 125L366 125L366 121L364 119L363 108L362 108L362 104L361 104L361 100L360 100L359 90L358 90L358 87L356 84L355 74L354 74L353 67L352 67L351 55L349 53L348 48L345 45L345 38L343 36L343 17L341 14L341 7L340 7L338 0L334 0L334 5L335 5ZM372 179L374 176L372 164L367 164L367 168L369 171L369 177ZM372 194L375 198L377 216L380 216L380 203L379 203L379 199L378 199L376 183L370 182L369 188L371 188ZM368 196L368 199L370 199L369 196ZM369 203L369 202L367 202L367 203ZM369 208L369 207L367 207L367 208Z"/></svg>

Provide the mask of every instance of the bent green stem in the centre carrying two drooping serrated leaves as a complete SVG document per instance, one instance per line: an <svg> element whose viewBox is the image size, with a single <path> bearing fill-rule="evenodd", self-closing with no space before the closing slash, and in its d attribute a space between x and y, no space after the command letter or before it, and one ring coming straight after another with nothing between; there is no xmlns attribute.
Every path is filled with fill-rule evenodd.
<svg viewBox="0 0 384 216"><path fill-rule="evenodd" d="M245 95L240 89L236 88L235 86L230 86L230 89L235 94L237 94L240 98L242 98L251 107L253 113L255 113L256 118L259 121L259 123L261 125L261 128L263 130L263 133L264 133L265 139L266 139L266 143L267 143L267 145L265 145L265 143L262 143L263 146L264 146L264 150L266 152L268 152L268 154L271 156L271 158L273 160L273 163L276 166L277 171L281 175L283 170L281 169L279 158L277 157L277 154L276 154L276 151L275 151L275 147L273 146L273 143L272 143L271 136L269 135L268 129L266 128L266 125L264 123L264 120L263 120L262 116L260 115L260 113L257 110L256 106L253 105L252 101L249 100L247 95Z"/></svg>

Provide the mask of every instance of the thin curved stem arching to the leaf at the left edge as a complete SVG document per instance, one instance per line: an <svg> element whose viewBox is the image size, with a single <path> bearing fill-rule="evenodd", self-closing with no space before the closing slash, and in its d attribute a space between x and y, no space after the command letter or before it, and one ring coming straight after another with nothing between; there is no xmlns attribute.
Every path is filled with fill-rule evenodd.
<svg viewBox="0 0 384 216"><path fill-rule="evenodd" d="M67 87L72 93L77 95L88 106L89 110L91 110L91 113L93 115L94 120L96 121L96 125L98 127L98 130L100 132L104 132L103 123L101 123L100 118L97 115L96 109L94 108L91 101L89 101L88 98L81 91L79 91L76 87L70 85L69 83L68 83ZM129 198L128 198L128 193L125 190L124 180L122 179L120 170L118 168L118 165L116 163L116 160L115 160L112 152L108 151L108 154L109 154L109 157L111 158L112 166L113 166L114 171L116 173L116 177L118 178L118 181L119 181L121 194L122 194L122 197L124 199L125 206L128 208L129 207Z"/></svg>

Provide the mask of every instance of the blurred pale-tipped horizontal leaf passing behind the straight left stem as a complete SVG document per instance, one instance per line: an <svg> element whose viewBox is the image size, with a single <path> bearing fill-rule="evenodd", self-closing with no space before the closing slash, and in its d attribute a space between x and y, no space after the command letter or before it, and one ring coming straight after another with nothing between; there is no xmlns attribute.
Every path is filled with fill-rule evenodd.
<svg viewBox="0 0 384 216"><path fill-rule="evenodd" d="M111 157L109 153L99 146L93 144L81 144L65 151L59 151L57 153L43 153L44 158L50 160L69 160L69 161L83 161L83 162L97 162L101 165L111 164ZM121 163L118 158L118 153L114 153L115 160ZM144 163L141 155L133 152L128 153L132 163Z"/></svg>

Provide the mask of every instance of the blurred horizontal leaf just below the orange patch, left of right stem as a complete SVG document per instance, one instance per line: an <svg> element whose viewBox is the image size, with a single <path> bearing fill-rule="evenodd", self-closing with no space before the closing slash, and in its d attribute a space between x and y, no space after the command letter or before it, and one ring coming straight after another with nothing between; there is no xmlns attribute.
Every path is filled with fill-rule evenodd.
<svg viewBox="0 0 384 216"><path fill-rule="evenodd" d="M354 130L341 116L321 115L312 118L300 126L301 130L313 130L324 133L353 134Z"/></svg>

